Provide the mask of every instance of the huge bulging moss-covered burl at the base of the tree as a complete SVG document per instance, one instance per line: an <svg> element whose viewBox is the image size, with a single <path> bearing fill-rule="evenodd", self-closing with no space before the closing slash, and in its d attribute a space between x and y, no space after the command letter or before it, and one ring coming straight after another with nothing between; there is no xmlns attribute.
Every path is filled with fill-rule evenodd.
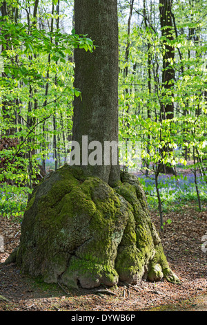
<svg viewBox="0 0 207 325"><path fill-rule="evenodd" d="M68 288L143 278L179 284L139 180L124 172L113 188L79 167L48 174L28 200L19 247L6 263L11 257L23 274Z"/></svg>

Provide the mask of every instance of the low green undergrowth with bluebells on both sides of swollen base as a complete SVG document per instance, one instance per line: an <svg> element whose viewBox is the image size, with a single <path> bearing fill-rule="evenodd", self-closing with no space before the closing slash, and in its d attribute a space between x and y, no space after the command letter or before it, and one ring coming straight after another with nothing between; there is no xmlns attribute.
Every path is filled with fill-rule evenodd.
<svg viewBox="0 0 207 325"><path fill-rule="evenodd" d="M144 187L148 206L150 210L157 210L157 192L155 188L155 178L153 176L138 176L141 185ZM201 199L201 209L207 204L207 183L198 178L199 196ZM21 222L23 213L28 201L28 187L16 187L14 185L3 184L0 186L0 216L14 217ZM188 176L159 176L159 193L161 196L162 211L179 211L186 203L197 205L197 192L194 184L193 174Z"/></svg>

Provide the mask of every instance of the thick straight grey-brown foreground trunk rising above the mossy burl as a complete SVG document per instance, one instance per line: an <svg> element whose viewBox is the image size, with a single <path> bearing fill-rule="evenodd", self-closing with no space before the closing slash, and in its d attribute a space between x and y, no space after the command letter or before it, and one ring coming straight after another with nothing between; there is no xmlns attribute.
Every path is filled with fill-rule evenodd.
<svg viewBox="0 0 207 325"><path fill-rule="evenodd" d="M82 136L102 146L104 141L118 144L117 0L76 0L75 32L88 34L97 46L92 53L75 49L74 86L81 91L81 97L74 99L72 141L79 142L82 153ZM83 165L81 159L81 167L109 185L120 179L119 165L112 165L111 159L110 165L104 165L102 159L102 165L95 166Z"/></svg>

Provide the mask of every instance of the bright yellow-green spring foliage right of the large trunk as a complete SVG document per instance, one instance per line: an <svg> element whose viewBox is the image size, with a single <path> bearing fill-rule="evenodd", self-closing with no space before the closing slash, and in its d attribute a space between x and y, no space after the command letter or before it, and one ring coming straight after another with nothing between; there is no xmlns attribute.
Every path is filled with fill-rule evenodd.
<svg viewBox="0 0 207 325"><path fill-rule="evenodd" d="M152 9L146 1L145 6L143 11L135 8L138 23L130 28L130 19L126 25L120 19L119 139L126 147L129 142L139 143L137 169L154 178L150 184L143 180L144 189L150 194L150 205L159 206L162 219L169 203L197 199L201 208L206 199L206 187L198 184L200 174L205 184L207 167L206 1L173 2L168 14L173 26L163 28L155 19L158 6ZM123 8L121 14L123 17ZM165 68L164 60L168 63ZM163 82L169 69L175 78ZM173 106L173 117L163 113L168 106ZM170 183L161 184L164 166L176 173L188 161L194 173L192 190L172 190ZM121 161L126 169L135 167L133 163L129 154Z"/></svg>

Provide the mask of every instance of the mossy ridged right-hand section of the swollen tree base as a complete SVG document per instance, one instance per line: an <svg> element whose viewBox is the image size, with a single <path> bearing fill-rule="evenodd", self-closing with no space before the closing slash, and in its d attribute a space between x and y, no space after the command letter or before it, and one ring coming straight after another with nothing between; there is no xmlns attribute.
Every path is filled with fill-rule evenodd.
<svg viewBox="0 0 207 325"><path fill-rule="evenodd" d="M124 183L115 190L130 203L132 218L129 224L134 227L126 227L118 248L116 268L119 275L133 281L136 277L140 279L144 275L144 269L148 269L150 281L165 277L168 281L177 282L168 266L159 234L150 221L143 189L134 176L122 173L121 180Z"/></svg>

